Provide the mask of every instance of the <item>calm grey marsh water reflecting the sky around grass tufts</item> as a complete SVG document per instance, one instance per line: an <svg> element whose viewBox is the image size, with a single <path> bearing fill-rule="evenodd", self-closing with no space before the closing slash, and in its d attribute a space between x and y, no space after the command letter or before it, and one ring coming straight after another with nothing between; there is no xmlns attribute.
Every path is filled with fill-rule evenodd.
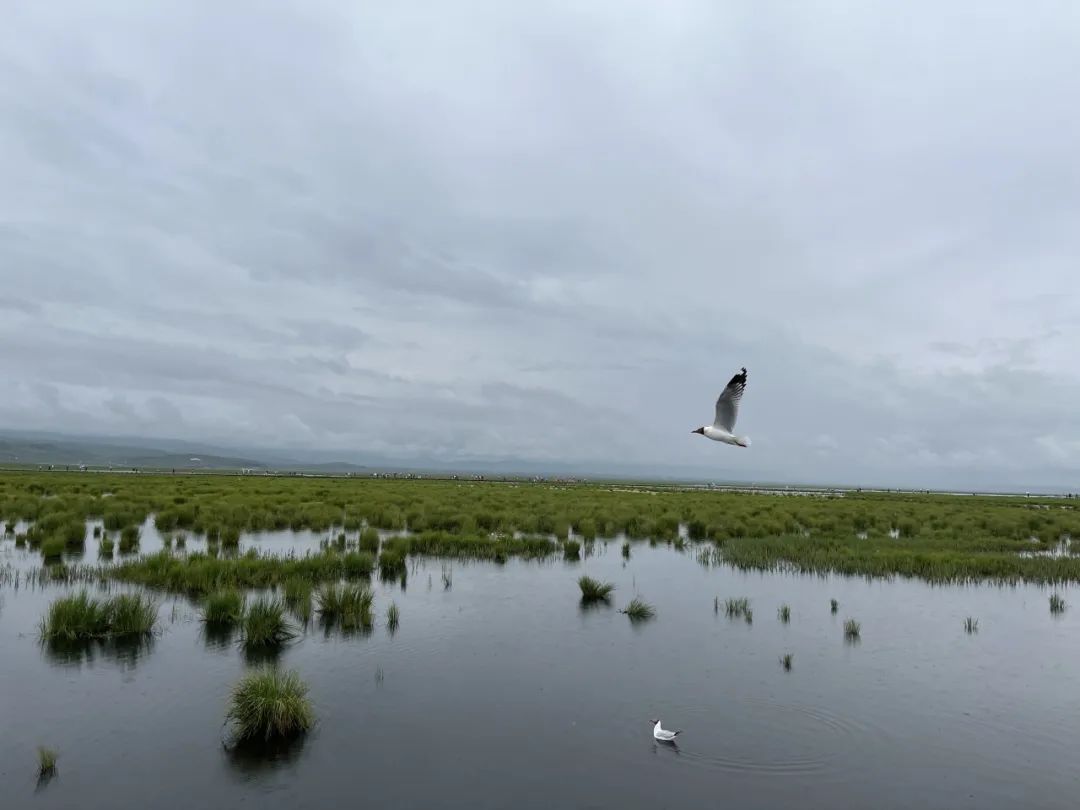
<svg viewBox="0 0 1080 810"><path fill-rule="evenodd" d="M318 548L321 536L245 537ZM160 548L148 523L141 551ZM89 539L84 562L96 559ZM197 540L188 550L203 548ZM375 631L313 624L280 658L319 725L274 756L221 744L247 669L205 638L199 607L161 596L135 649L58 657L38 622L66 588L0 586L3 808L1076 808L1080 593L930 586L706 567L697 550L597 543L571 564L410 562L373 580ZM0 566L40 555L0 541ZM444 568L451 585L443 582ZM577 578L615 582L583 609ZM78 590L78 589L75 589ZM91 590L95 590L92 588ZM618 612L635 594L657 609ZM714 597L720 598L719 612ZM753 624L724 615L745 596ZM390 599L401 625L388 633ZM833 615L829 599L839 602ZM791 605L788 624L778 619ZM1076 603L1076 604L1074 604ZM963 619L978 619L964 633ZM862 624L846 643L847 618ZM793 667L780 664L794 654ZM677 747L651 718L680 728ZM37 782L38 745L58 751Z"/></svg>

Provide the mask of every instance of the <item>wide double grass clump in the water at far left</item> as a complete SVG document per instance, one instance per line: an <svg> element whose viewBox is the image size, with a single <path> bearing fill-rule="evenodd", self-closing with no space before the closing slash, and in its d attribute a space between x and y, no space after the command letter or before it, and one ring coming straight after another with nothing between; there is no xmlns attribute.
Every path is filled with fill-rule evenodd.
<svg viewBox="0 0 1080 810"><path fill-rule="evenodd" d="M103 602L82 591L53 602L40 630L46 640L78 642L148 635L157 621L158 606L149 596L120 594Z"/></svg>

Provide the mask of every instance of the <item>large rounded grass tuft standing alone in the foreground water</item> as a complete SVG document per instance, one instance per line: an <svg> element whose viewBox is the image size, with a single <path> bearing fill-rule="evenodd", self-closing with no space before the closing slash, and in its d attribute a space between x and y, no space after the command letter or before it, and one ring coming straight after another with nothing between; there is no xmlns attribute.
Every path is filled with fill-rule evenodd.
<svg viewBox="0 0 1080 810"><path fill-rule="evenodd" d="M315 714L299 675L267 669L245 675L232 688L226 713L230 720L237 740L270 741L309 731Z"/></svg>

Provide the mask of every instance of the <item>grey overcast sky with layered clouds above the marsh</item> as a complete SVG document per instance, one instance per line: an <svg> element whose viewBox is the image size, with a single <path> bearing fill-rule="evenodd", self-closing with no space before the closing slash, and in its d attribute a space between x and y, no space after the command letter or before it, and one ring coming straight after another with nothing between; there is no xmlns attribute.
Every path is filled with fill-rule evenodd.
<svg viewBox="0 0 1080 810"><path fill-rule="evenodd" d="M1080 4L9 0L0 427L1080 487ZM690 431L750 370L737 432Z"/></svg>

